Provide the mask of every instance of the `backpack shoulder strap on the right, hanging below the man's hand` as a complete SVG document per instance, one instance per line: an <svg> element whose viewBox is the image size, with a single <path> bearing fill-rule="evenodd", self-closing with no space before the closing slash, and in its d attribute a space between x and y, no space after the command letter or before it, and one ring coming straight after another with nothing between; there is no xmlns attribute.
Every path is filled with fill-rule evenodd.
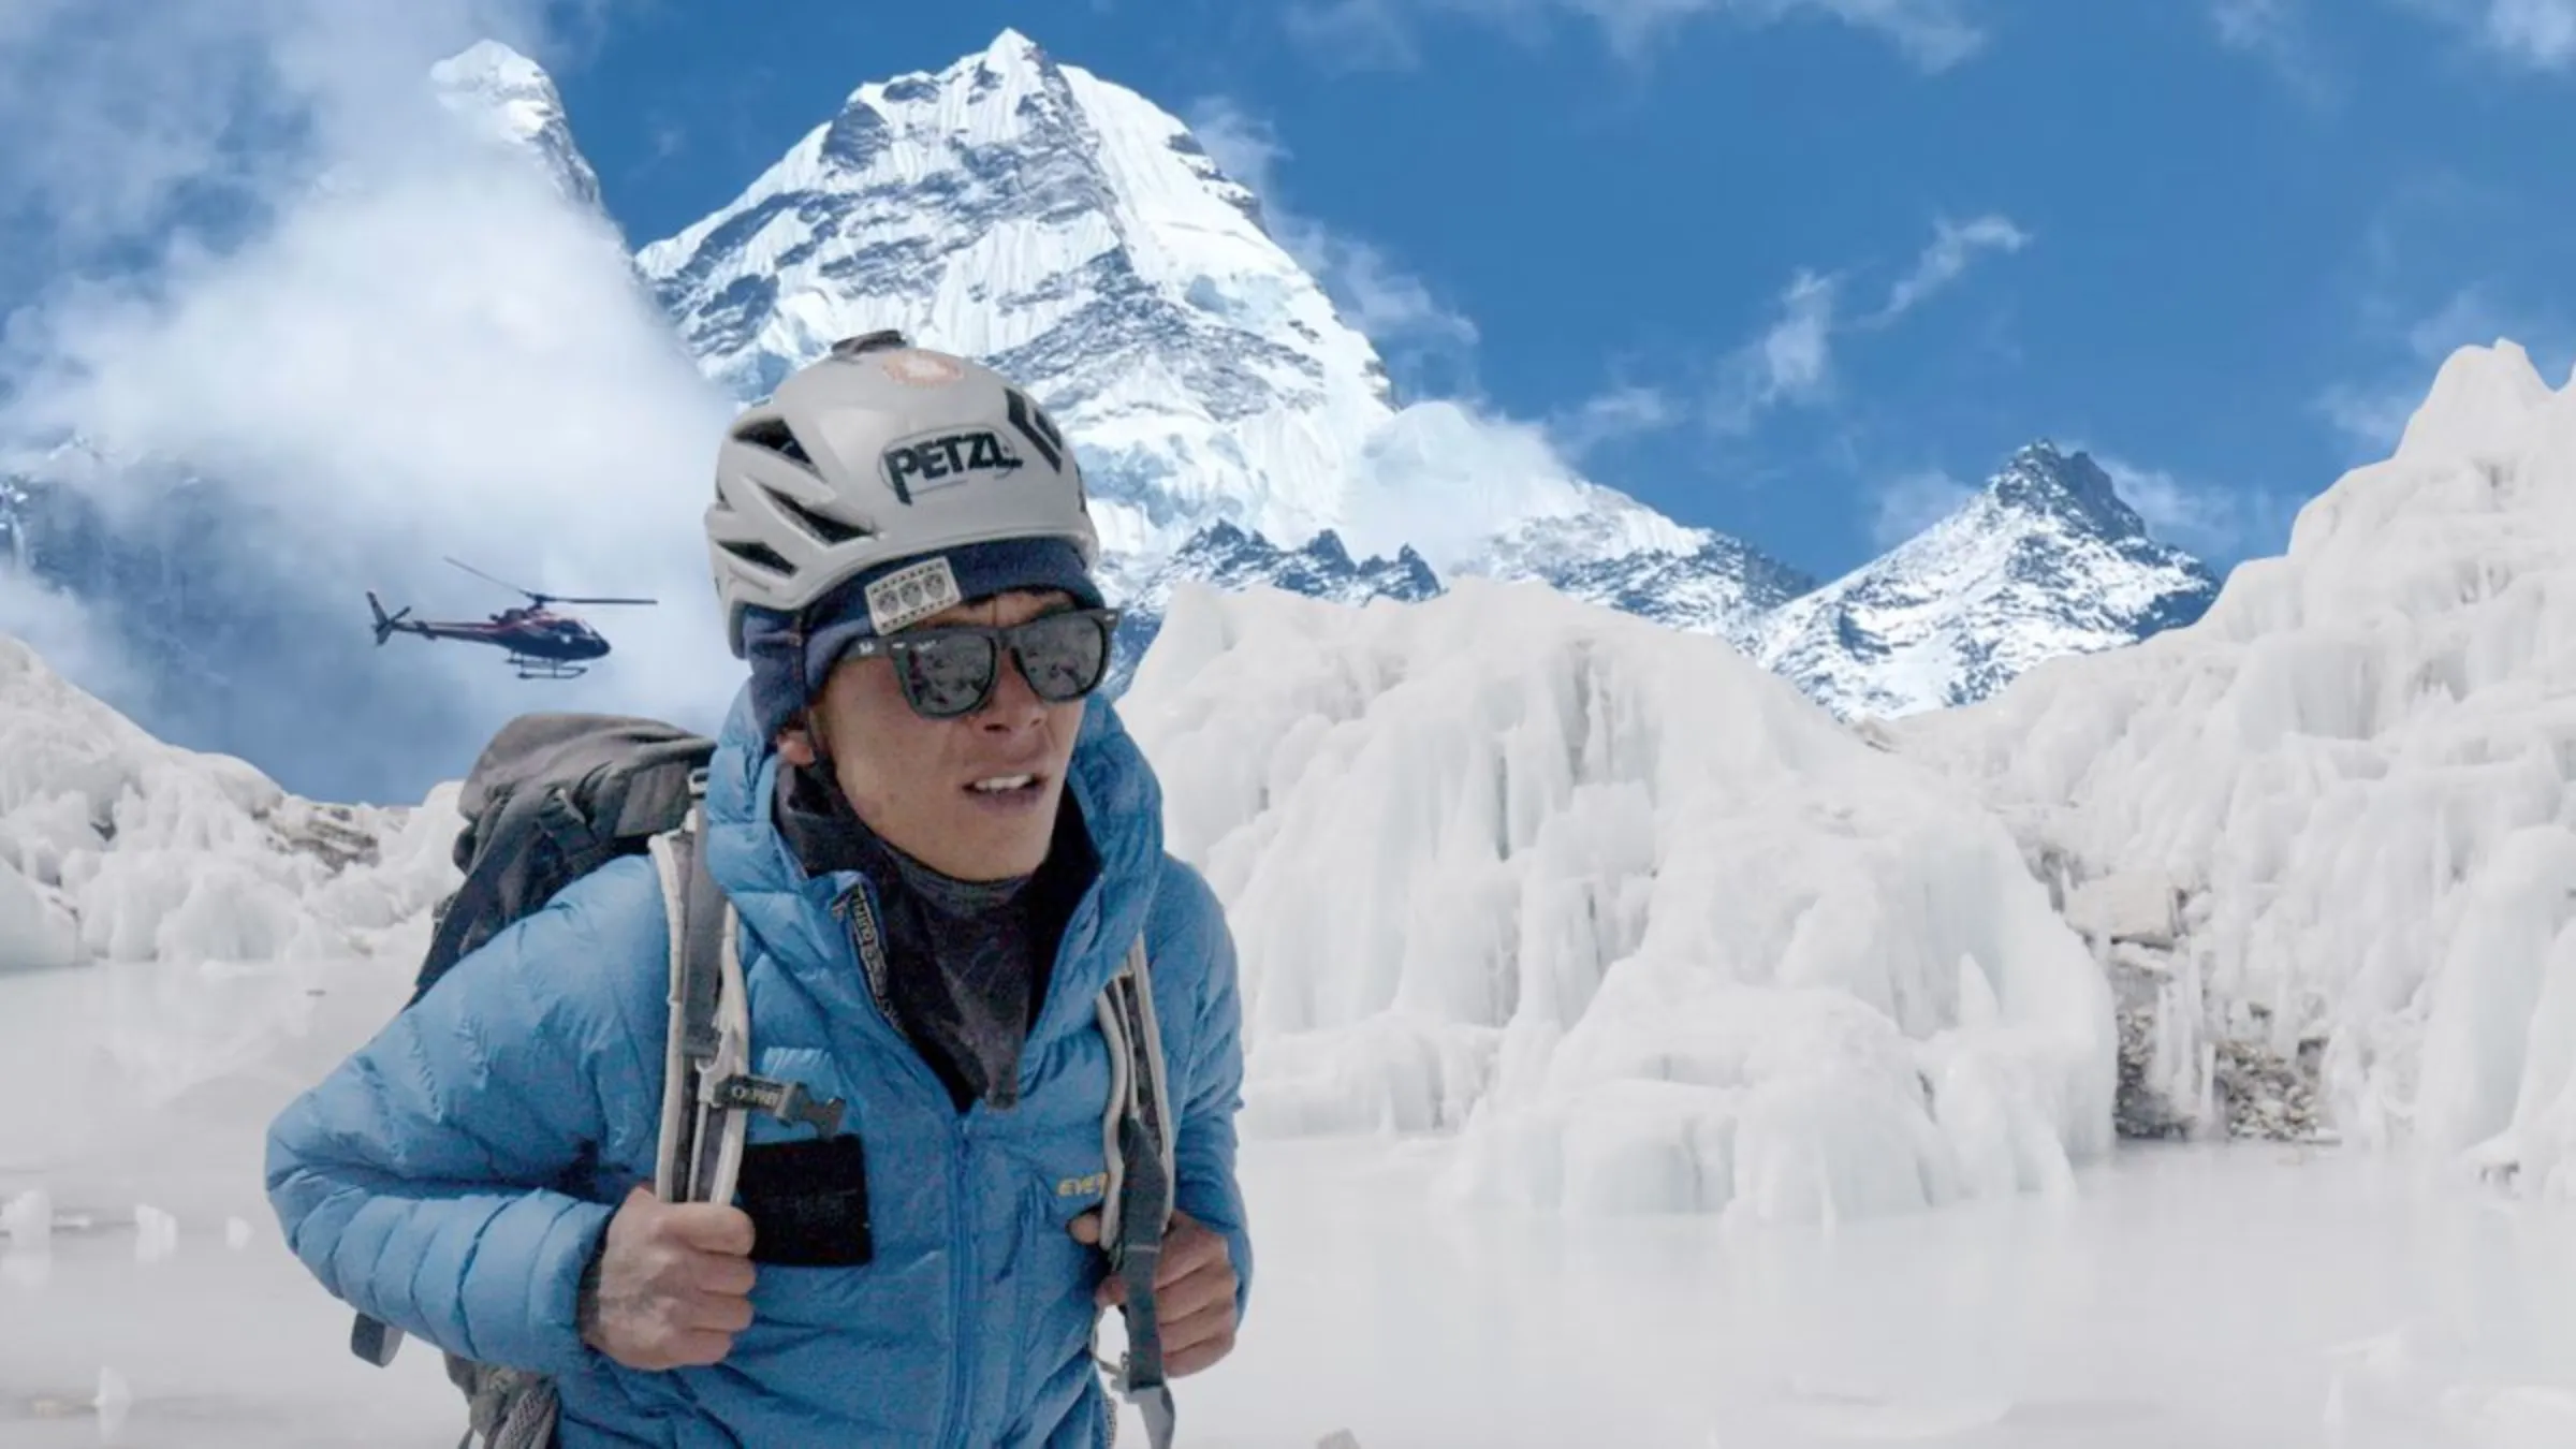
<svg viewBox="0 0 2576 1449"><path fill-rule="evenodd" d="M1110 1044L1110 1101L1100 1119L1110 1186L1100 1201L1100 1243L1110 1271L1126 1281L1128 1325L1118 1387L1144 1413L1154 1449L1164 1449L1172 1444L1172 1387L1162 1369L1154 1274L1162 1266L1162 1235L1172 1225L1177 1124L1144 936L1136 936L1126 964L1100 990L1100 1034Z"/></svg>

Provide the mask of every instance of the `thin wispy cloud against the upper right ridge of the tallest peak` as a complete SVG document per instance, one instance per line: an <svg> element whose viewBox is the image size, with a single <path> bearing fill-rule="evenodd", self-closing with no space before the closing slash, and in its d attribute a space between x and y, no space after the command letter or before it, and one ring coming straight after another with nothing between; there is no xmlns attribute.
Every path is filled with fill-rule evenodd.
<svg viewBox="0 0 2576 1449"><path fill-rule="evenodd" d="M1455 358L1476 345L1476 322L1448 307L1376 242L1337 232L1283 201L1278 168L1291 157L1270 121L1224 95L1198 101L1190 134L1208 157L1262 204L1262 224L1332 297L1342 320L1381 351Z"/></svg>

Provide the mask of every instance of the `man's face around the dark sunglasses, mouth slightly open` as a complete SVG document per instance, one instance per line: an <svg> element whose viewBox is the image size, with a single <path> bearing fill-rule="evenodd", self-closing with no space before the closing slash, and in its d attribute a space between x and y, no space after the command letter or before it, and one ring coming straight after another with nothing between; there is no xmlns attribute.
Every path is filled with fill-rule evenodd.
<svg viewBox="0 0 2576 1449"><path fill-rule="evenodd" d="M1064 593L1002 593L922 619L1023 624L1072 608ZM1002 652L984 709L922 719L904 701L894 660L842 657L811 706L850 807L889 846L956 879L1025 877L1046 861L1064 799L1064 771L1082 730L1082 701L1046 704ZM778 740L788 763L814 763L801 730Z"/></svg>

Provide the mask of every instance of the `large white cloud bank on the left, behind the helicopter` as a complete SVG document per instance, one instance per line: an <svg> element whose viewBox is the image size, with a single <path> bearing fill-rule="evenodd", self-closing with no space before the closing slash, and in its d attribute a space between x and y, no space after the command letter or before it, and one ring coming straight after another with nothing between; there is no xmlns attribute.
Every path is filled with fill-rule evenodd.
<svg viewBox="0 0 2576 1449"><path fill-rule="evenodd" d="M278 590L353 627L363 588L422 614L513 603L440 554L657 596L600 619L613 668L549 701L611 688L696 717L739 678L698 539L729 405L634 289L613 227L523 152L443 124L428 90L482 34L544 54L536 3L10 10L8 199L59 222L49 248L147 260L13 320L0 438L77 431L252 492ZM229 222L173 229L209 188ZM526 706L497 652L386 660L407 686Z"/></svg>

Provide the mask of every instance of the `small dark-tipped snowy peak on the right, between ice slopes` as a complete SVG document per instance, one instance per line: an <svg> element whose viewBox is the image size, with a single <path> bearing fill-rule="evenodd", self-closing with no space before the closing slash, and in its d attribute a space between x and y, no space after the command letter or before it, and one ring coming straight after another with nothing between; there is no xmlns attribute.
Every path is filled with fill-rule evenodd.
<svg viewBox="0 0 2576 1449"><path fill-rule="evenodd" d="M2022 670L2190 624L2218 593L2087 454L2040 441L1963 508L1785 603L1759 660L1842 717L1986 699Z"/></svg>

